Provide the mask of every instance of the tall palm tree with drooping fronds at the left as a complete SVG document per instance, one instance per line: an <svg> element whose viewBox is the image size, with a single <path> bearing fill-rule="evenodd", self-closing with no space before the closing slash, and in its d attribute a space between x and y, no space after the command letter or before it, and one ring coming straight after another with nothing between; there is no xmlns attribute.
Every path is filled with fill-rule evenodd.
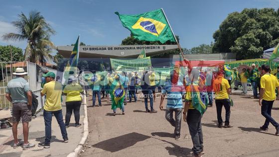
<svg viewBox="0 0 279 157"><path fill-rule="evenodd" d="M38 61L44 63L46 60L42 59L43 56L50 57L51 50L49 48L54 47L54 44L49 40L49 36L55 34L45 18L37 11L29 12L28 18L21 12L21 14L18 14L18 20L11 23L19 33L6 33L2 36L3 39L27 40L24 52L25 60L36 63L39 59Z"/></svg>

